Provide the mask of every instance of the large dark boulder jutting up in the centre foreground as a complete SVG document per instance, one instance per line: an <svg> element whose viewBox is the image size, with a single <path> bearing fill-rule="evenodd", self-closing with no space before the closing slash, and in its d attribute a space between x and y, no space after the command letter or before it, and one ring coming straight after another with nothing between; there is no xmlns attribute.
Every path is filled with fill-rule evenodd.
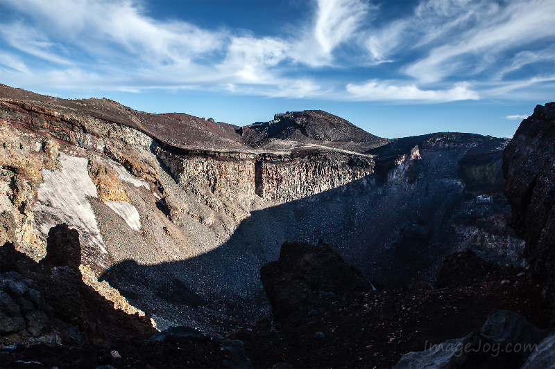
<svg viewBox="0 0 555 369"><path fill-rule="evenodd" d="M308 305L316 296L372 288L360 271L348 265L330 245L323 242L316 246L305 242L285 242L280 258L262 266L260 278L273 315L278 320L300 310L301 314L318 314L314 307Z"/></svg>

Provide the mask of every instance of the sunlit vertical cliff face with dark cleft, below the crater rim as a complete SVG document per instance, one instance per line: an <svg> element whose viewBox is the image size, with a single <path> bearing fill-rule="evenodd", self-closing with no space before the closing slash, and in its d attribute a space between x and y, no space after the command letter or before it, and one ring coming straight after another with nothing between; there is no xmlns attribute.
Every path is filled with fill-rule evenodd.
<svg viewBox="0 0 555 369"><path fill-rule="evenodd" d="M284 204L363 180L373 183L371 156L341 152L257 154L191 152L157 155L183 188L201 186L245 210ZM269 201L262 203L260 200ZM236 219L238 221L242 220Z"/></svg>

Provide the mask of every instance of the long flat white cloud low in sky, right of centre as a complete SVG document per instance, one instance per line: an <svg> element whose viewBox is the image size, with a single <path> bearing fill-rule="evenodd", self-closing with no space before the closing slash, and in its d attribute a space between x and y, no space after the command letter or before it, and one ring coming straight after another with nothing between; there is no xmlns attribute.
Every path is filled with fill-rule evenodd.
<svg viewBox="0 0 555 369"><path fill-rule="evenodd" d="M364 84L350 83L346 89L355 100L416 100L422 102L478 100L478 93L470 90L469 87L468 83L461 82L447 90L422 90L416 84L387 84L377 80L370 80Z"/></svg>

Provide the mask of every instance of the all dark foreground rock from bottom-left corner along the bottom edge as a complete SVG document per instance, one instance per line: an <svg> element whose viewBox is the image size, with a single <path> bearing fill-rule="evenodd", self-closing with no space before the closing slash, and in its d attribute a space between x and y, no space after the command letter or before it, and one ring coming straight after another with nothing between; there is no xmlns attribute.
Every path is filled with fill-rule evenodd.
<svg viewBox="0 0 555 369"><path fill-rule="evenodd" d="M160 332L85 285L79 235L51 228L40 263L0 247L2 368L249 368L243 343L187 327ZM150 340L146 340L152 337Z"/></svg>

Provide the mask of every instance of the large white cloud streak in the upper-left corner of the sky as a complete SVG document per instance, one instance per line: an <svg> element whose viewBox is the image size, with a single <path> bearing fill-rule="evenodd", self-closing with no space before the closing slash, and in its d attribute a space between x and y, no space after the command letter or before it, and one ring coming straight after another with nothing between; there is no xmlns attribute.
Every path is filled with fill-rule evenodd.
<svg viewBox="0 0 555 369"><path fill-rule="evenodd" d="M22 14L33 19L40 29L33 31L19 24L3 24L14 37L24 28L27 41L35 55L48 52L52 43L40 43L36 35L63 39L93 55L122 56L131 53L141 62L149 64L183 62L200 53L215 51L223 42L223 35L203 30L185 21L160 22L147 17L137 1L132 0L4 0ZM60 17L63 15L63 17ZM7 27L7 28L6 28ZM35 33L35 37L31 37ZM40 55L38 55L40 56ZM125 55L123 55L125 56ZM130 62L130 60L126 60Z"/></svg>

